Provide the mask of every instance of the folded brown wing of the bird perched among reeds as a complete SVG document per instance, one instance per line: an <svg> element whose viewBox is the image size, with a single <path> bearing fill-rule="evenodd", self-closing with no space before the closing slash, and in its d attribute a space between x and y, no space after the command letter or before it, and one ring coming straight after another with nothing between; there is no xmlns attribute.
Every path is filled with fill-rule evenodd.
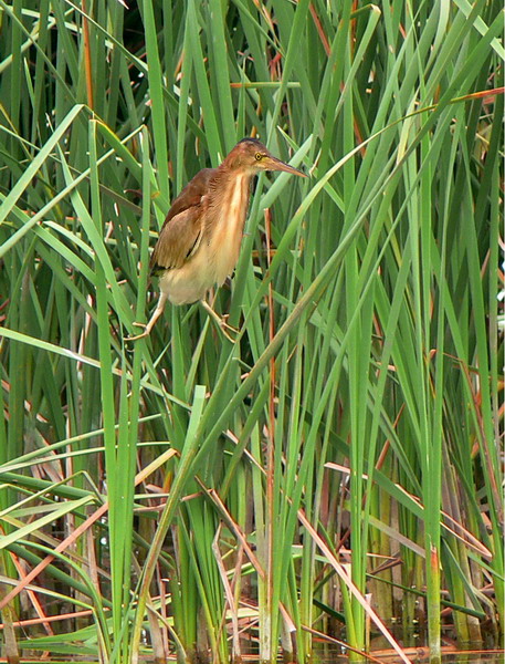
<svg viewBox="0 0 505 664"><path fill-rule="evenodd" d="M214 168L200 170L173 200L150 258L151 272L180 268L197 250L203 232L204 197L214 173Z"/></svg>

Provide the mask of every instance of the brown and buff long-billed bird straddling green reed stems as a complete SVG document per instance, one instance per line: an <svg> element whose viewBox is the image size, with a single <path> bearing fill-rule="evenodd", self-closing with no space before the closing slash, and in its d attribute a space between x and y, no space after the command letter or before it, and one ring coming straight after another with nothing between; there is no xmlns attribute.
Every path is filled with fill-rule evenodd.
<svg viewBox="0 0 505 664"><path fill-rule="evenodd" d="M218 168L203 168L173 200L152 250L149 270L159 278L159 298L140 334L148 336L167 300L171 304L202 302L224 328L231 328L207 302L207 292L222 286L236 266L248 214L252 178L262 170L305 173L274 157L256 138L242 138Z"/></svg>

